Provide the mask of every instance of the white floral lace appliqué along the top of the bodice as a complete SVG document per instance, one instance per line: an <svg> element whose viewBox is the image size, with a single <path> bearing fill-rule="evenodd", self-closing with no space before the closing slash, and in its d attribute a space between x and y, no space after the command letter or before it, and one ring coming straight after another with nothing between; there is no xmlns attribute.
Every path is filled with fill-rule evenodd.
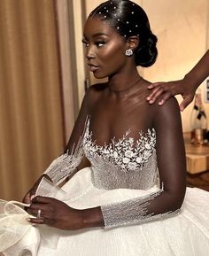
<svg viewBox="0 0 209 256"><path fill-rule="evenodd" d="M124 172L142 169L152 155L156 144L156 134L154 128L148 129L146 133L139 132L139 139L134 140L128 137L128 130L122 138L115 141L112 138L110 144L98 145L97 140L92 140L92 131L89 131L89 120L84 136L84 147L89 154L89 158L102 157L112 164L116 164Z"/></svg>

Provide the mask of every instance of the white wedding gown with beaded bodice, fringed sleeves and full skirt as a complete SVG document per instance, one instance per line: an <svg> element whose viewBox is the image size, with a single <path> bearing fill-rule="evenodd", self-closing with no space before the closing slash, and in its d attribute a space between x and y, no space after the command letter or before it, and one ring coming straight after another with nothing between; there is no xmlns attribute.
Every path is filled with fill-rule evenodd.
<svg viewBox="0 0 209 256"><path fill-rule="evenodd" d="M163 191L159 188L155 141L155 131L148 130L135 143L126 133L117 142L112 139L111 144L99 146L92 140L88 121L76 153L59 157L46 173L55 182L62 180L79 164L83 154L91 167L81 169L58 192L51 185L53 191L48 193L50 189L43 181L38 193L54 195L77 209L101 206L104 229L64 231L26 224L27 232L11 247L4 248L3 255L209 255L208 192L187 188L181 209L162 214L146 211ZM4 230L9 232L8 227ZM1 232L0 241L4 234Z"/></svg>

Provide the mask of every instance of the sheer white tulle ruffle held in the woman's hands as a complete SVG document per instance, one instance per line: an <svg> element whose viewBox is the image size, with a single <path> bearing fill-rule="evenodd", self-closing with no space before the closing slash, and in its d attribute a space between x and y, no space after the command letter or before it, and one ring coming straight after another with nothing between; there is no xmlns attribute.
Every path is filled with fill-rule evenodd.
<svg viewBox="0 0 209 256"><path fill-rule="evenodd" d="M35 195L62 199L66 192L43 178ZM37 255L39 246L56 249L59 235L56 229L32 225L24 206L17 201L0 200L0 252L4 256ZM0 254L1 255L1 254Z"/></svg>

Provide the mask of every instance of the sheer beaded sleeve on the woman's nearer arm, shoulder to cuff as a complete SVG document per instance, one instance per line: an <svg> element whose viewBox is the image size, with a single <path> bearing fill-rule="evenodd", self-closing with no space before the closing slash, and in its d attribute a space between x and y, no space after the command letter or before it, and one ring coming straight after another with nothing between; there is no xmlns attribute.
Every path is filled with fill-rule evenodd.
<svg viewBox="0 0 209 256"><path fill-rule="evenodd" d="M156 221L180 212L186 189L181 116L174 98L156 109L154 128L161 189L147 197L101 206L104 228Z"/></svg>

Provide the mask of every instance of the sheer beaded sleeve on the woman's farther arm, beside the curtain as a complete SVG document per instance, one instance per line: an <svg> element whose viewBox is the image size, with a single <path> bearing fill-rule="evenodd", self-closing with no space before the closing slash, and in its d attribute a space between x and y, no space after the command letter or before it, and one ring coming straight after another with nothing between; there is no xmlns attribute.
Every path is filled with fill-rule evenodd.
<svg viewBox="0 0 209 256"><path fill-rule="evenodd" d="M79 167L83 159L83 136L88 118L88 92L86 93L78 118L74 124L74 129L70 140L66 146L64 154L53 160L44 172L55 184L62 182L66 176L71 175Z"/></svg>

